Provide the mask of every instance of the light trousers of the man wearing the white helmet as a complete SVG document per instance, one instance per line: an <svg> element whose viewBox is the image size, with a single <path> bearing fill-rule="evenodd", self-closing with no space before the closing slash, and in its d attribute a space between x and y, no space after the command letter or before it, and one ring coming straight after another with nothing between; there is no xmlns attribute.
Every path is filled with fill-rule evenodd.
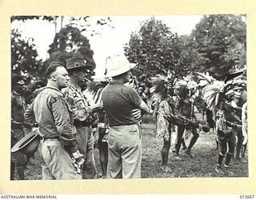
<svg viewBox="0 0 256 200"><path fill-rule="evenodd" d="M110 126L106 178L141 178L142 137L137 125Z"/></svg>

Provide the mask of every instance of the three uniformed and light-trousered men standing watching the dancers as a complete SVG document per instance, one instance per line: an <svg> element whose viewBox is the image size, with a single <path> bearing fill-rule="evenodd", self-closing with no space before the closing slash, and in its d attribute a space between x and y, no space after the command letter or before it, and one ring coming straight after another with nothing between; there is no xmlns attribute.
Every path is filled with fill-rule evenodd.
<svg viewBox="0 0 256 200"><path fill-rule="evenodd" d="M106 76L112 78L112 82L102 91L102 102L110 126L106 178L141 176L142 146L138 110L146 113L152 113L153 110L146 106L133 88L123 85L129 81L133 67L123 54L116 54L106 62ZM86 102L79 86L85 75L86 62L83 58L70 58L66 66L61 62L51 62L46 69L46 86L34 95L24 118L23 113L18 114L22 118L20 121L24 119L38 126L42 179L96 176L91 121L94 121L92 115L102 110L103 106L88 105ZM14 116L17 113L13 113ZM12 136L13 130L12 126ZM17 138L17 141L21 138Z"/></svg>

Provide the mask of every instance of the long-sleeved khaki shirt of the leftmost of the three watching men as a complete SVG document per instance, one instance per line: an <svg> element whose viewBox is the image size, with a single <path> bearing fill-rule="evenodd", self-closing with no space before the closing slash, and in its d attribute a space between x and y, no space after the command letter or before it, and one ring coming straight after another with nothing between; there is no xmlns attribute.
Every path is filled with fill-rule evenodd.
<svg viewBox="0 0 256 200"><path fill-rule="evenodd" d="M29 122L38 123L41 137L63 135L70 141L75 138L72 110L62 92L50 83L34 98L24 116Z"/></svg>

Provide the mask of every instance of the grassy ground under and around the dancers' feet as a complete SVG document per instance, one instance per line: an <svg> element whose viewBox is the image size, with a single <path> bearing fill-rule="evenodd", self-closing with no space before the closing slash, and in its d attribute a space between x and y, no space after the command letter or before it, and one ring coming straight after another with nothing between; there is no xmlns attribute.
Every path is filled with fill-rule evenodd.
<svg viewBox="0 0 256 200"><path fill-rule="evenodd" d="M144 120L146 121L146 120ZM197 143L194 145L192 152L195 158L190 158L184 151L181 150L182 161L176 161L172 150L174 142L171 144L168 166L171 171L163 172L160 169L162 158L162 138L155 137L155 125L153 122L142 124L142 178L210 178L220 177L223 175L217 174L214 170L218 150L212 133L200 133ZM190 134L186 136L186 144L189 143ZM98 149L94 150L95 161L98 169L98 178L101 177L101 167L98 158ZM230 170L234 177L248 177L248 161L247 152L245 158L241 161L232 159L230 162ZM17 178L17 175L15 175ZM38 154L35 154L35 165L27 165L25 172L26 179L40 180L41 163Z"/></svg>

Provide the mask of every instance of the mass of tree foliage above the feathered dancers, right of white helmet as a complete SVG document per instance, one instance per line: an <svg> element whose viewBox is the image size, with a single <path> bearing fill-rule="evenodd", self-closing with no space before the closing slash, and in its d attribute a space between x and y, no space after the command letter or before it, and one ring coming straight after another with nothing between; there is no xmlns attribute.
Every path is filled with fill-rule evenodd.
<svg viewBox="0 0 256 200"><path fill-rule="evenodd" d="M224 78L234 66L246 65L246 23L242 15L205 15L189 36L178 36L162 21L150 18L130 35L125 46L130 62L138 63L138 77L166 74L179 76L209 71Z"/></svg>

